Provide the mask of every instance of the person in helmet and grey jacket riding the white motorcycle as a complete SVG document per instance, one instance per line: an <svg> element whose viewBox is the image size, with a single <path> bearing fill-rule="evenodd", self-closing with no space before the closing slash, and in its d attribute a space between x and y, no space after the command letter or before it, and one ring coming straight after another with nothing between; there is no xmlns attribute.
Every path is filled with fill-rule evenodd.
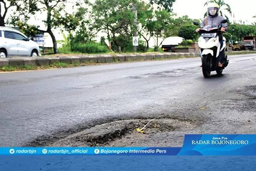
<svg viewBox="0 0 256 171"><path fill-rule="evenodd" d="M201 27L205 27L207 25L211 25L212 27L218 27L221 24L221 21L224 19L222 16L218 15L220 6L217 3L209 3L207 6L207 14L208 16L204 18ZM221 31L227 32L228 25L227 23L221 24ZM196 32L199 32L200 28L196 29ZM223 39L222 35L219 36L219 42L221 44L221 47L223 45ZM224 53L224 52L223 52ZM220 56L223 55L223 53L219 54L219 67L222 67L222 64L220 63ZM202 65L200 65L202 67Z"/></svg>

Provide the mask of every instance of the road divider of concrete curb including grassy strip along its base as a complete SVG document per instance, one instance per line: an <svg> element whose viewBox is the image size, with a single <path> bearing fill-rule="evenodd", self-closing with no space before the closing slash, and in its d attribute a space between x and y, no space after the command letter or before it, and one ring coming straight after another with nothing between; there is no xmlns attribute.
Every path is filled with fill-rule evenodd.
<svg viewBox="0 0 256 171"><path fill-rule="evenodd" d="M229 52L227 55L252 54L255 51ZM0 59L0 71L39 70L49 68L77 67L81 64L102 64L117 62L133 62L147 60L168 60L179 58L199 57L199 53L145 53L145 54L104 54L104 55L75 55L42 56L42 57L13 57Z"/></svg>

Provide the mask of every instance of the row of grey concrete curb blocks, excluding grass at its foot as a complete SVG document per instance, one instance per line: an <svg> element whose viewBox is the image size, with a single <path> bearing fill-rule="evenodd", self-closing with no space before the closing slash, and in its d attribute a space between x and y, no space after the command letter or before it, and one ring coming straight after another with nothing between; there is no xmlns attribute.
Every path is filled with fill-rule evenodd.
<svg viewBox="0 0 256 171"><path fill-rule="evenodd" d="M246 54L250 52L256 53L256 51L246 51ZM228 54L245 54L244 51L240 52L228 52ZM253 53L251 53L253 54ZM147 54L103 54L103 55L76 55L76 56L41 56L41 57L17 57L17 58L1 58L0 67L12 66L20 67L23 65L30 66L47 66L53 65L58 62L74 64L74 63L111 63L111 62L126 62L126 61L138 61L138 60L161 60L161 59L177 59L177 58L194 58L199 57L199 53L147 53Z"/></svg>

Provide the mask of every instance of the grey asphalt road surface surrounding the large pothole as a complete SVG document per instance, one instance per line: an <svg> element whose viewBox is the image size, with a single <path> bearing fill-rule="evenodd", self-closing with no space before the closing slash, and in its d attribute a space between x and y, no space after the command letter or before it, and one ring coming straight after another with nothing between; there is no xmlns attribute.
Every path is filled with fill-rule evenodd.
<svg viewBox="0 0 256 171"><path fill-rule="evenodd" d="M50 139L56 131L114 118L159 115L203 121L177 136L254 134L256 55L229 59L223 76L212 72L209 79L203 78L199 58L0 73L0 146L25 146L39 136ZM174 146L172 141L162 145Z"/></svg>

